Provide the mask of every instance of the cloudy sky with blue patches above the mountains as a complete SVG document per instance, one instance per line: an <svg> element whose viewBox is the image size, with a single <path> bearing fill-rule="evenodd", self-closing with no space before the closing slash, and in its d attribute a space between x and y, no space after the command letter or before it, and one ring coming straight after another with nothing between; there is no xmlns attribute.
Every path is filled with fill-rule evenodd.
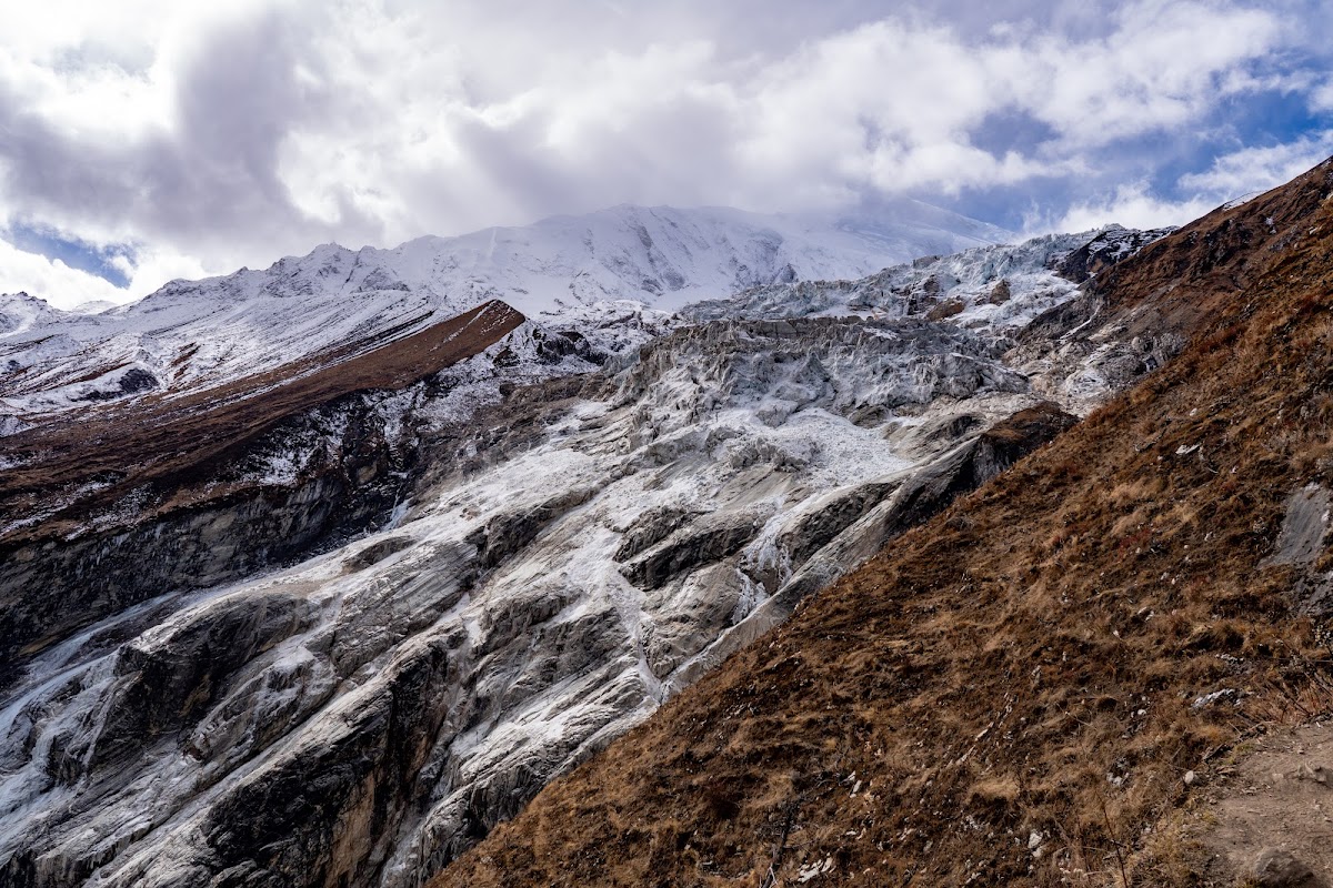
<svg viewBox="0 0 1333 888"><path fill-rule="evenodd" d="M0 293L621 202L1184 224L1333 154L1324 0L0 0Z"/></svg>

